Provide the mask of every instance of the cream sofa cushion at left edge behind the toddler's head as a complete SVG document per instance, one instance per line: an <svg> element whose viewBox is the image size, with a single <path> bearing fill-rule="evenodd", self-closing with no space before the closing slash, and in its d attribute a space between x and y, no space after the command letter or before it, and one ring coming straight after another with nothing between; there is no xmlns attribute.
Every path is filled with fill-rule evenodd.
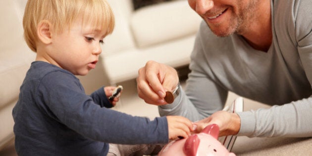
<svg viewBox="0 0 312 156"><path fill-rule="evenodd" d="M5 37L0 43L0 107L18 98L19 87L35 54L27 47L23 38L21 6L12 0L0 2L0 34ZM14 28L14 30L12 30Z"/></svg>

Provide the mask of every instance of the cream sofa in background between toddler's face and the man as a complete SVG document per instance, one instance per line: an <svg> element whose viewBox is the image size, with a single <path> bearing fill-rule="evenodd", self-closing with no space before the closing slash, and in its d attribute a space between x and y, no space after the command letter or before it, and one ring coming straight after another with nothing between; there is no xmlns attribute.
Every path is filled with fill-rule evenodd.
<svg viewBox="0 0 312 156"><path fill-rule="evenodd" d="M101 54L108 83L137 77L148 60L173 67L188 65L202 18L187 0L173 0L133 9L132 0L108 0L115 14L114 32Z"/></svg>

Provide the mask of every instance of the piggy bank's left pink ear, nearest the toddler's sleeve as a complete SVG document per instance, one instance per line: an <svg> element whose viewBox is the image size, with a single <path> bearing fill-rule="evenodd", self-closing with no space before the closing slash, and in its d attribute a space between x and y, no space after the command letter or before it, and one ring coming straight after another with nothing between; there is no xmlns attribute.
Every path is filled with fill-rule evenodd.
<svg viewBox="0 0 312 156"><path fill-rule="evenodd" d="M191 135L188 137L183 146L183 153L186 156L196 156L198 146L200 144L200 139L197 135Z"/></svg>

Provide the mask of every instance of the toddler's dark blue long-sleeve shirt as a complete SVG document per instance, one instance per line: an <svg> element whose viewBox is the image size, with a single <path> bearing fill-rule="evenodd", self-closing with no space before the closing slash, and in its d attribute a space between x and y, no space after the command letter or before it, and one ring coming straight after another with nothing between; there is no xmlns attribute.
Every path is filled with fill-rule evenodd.
<svg viewBox="0 0 312 156"><path fill-rule="evenodd" d="M151 121L111 106L103 87L88 96L69 71L33 62L12 112L17 154L106 156L108 143L168 142L165 117Z"/></svg>

